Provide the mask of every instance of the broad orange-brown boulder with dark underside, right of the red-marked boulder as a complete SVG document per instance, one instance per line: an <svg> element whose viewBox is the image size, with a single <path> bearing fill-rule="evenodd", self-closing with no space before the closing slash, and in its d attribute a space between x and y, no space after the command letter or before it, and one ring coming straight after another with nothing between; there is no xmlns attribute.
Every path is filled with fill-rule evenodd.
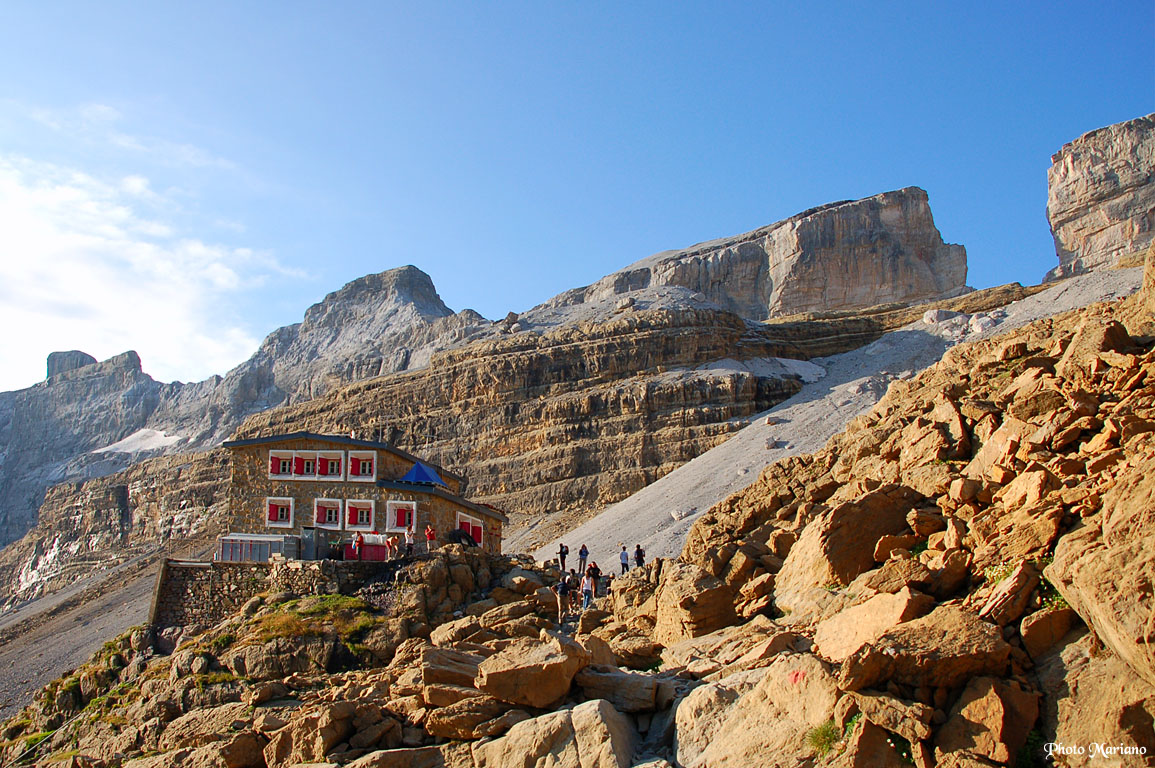
<svg viewBox="0 0 1155 768"><path fill-rule="evenodd" d="M954 687L981 674L1003 674L1011 646L993 624L954 605L900 624L842 663L839 687L859 691L887 680Z"/></svg>

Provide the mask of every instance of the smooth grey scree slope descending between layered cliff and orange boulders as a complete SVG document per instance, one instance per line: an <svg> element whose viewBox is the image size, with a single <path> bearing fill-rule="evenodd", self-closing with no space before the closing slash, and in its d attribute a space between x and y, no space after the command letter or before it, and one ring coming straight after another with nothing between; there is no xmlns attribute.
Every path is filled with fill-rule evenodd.
<svg viewBox="0 0 1155 768"><path fill-rule="evenodd" d="M621 544L631 552L635 544L641 544L650 558L677 557L690 527L702 513L753 483L766 465L821 448L850 419L872 408L886 394L891 381L915 376L960 342L986 338L1052 314L1130 296L1141 283L1142 269L1091 273L1000 310L924 318L860 349L814 359L812 363L826 368L824 378L759 415L721 446L537 549L534 557L538 560L553 557L559 542L569 546L574 559L578 549L586 544L603 571L617 569ZM505 549L517 551L517 538L507 539Z"/></svg>

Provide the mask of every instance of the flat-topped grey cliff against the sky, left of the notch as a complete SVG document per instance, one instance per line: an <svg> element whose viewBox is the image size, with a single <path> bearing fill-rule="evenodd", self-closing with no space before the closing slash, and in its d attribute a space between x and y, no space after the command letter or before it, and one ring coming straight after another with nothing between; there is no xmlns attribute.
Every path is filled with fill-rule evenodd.
<svg viewBox="0 0 1155 768"><path fill-rule="evenodd" d="M681 286L765 320L927 301L966 290L967 252L942 243L917 187L830 203L777 224L668 251L549 305L584 304L643 288Z"/></svg>

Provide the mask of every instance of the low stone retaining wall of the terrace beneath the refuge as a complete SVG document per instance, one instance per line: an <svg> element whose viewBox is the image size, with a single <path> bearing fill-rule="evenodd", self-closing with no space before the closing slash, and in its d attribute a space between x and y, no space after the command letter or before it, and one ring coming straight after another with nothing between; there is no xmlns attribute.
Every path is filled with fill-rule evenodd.
<svg viewBox="0 0 1155 768"><path fill-rule="evenodd" d="M188 562L164 560L149 622L164 627L211 626L261 592L348 595L365 582L396 573L404 561Z"/></svg>

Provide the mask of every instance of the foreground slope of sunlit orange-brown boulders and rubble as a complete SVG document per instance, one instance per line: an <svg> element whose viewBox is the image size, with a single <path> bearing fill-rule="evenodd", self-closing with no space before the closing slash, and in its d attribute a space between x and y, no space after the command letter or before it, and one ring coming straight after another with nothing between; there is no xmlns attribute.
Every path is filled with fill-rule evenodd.
<svg viewBox="0 0 1155 768"><path fill-rule="evenodd" d="M1052 741L1143 765L1150 300L954 348L593 610L559 616L549 565L447 547L382 589L129 633L6 723L3 756L925 768Z"/></svg>

